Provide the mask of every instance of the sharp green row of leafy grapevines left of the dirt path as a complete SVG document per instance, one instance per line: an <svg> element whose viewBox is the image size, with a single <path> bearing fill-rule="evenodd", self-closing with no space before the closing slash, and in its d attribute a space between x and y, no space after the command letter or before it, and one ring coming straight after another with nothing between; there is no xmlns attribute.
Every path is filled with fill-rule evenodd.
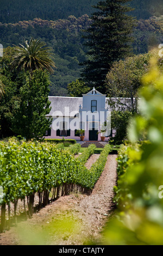
<svg viewBox="0 0 163 256"><path fill-rule="evenodd" d="M74 148L73 148L74 147ZM62 150L62 145L50 143L17 142L10 139L0 143L0 186L3 195L1 205L1 231L5 229L6 206L10 219L10 203L16 206L18 199L27 197L28 214L32 216L35 193L39 196L39 207L49 202L49 192L53 190L52 198L56 199L70 191L90 192L101 175L110 145L106 145L101 155L91 169L84 163L93 154L95 145L90 145L77 159L73 157L80 147L72 145L68 150ZM26 212L25 206L24 211Z"/></svg>

